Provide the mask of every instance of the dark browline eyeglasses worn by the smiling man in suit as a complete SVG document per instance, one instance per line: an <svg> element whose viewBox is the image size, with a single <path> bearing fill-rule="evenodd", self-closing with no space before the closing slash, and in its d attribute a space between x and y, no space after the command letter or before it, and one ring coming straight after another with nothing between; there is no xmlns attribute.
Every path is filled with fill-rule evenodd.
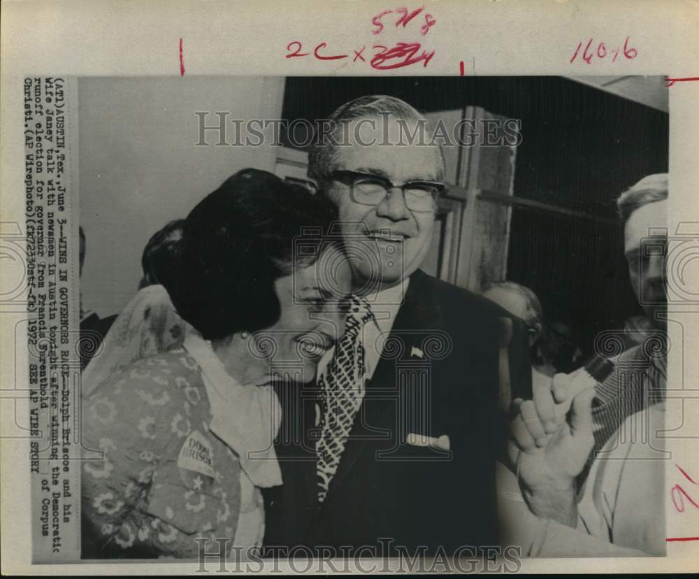
<svg viewBox="0 0 699 579"><path fill-rule="evenodd" d="M376 206L399 189L403 192L405 206L417 213L434 211L438 195L445 190L444 183L437 181L415 180L396 185L383 177L359 171L333 171L330 176L349 185L349 196L355 203Z"/></svg>

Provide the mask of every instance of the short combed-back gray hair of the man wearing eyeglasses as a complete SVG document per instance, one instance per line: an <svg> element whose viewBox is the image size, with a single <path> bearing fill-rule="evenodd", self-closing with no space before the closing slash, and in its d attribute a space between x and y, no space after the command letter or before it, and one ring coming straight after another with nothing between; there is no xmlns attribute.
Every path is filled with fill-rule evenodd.
<svg viewBox="0 0 699 579"><path fill-rule="evenodd" d="M360 96L359 99L349 101L337 108L327 119L331 127L328 134L330 138L315 139L308 155L308 176L314 179L318 185L321 185L329 177L336 164L338 154L332 141L341 142L338 135L346 124L357 119L387 117L388 115L408 122L423 122L425 124L427 122L424 115L395 96L384 94ZM444 174L444 157L442 157L441 150L439 150L438 174L440 178Z"/></svg>

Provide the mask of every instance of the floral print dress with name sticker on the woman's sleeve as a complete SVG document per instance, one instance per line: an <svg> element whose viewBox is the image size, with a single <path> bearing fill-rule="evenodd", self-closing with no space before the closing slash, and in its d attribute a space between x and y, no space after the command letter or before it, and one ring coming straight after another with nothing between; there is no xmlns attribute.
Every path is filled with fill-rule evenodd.
<svg viewBox="0 0 699 579"><path fill-rule="evenodd" d="M212 416L201 367L183 348L141 359L87 396L83 558L196 559L222 544L245 557L259 546L261 493L210 431Z"/></svg>

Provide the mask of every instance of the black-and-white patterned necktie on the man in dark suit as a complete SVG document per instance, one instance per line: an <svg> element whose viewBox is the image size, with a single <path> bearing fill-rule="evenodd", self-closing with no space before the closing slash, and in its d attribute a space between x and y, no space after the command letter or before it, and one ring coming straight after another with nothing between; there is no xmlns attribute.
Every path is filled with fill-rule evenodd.
<svg viewBox="0 0 699 579"><path fill-rule="evenodd" d="M335 355L319 377L321 433L316 443L318 455L318 501L323 502L330 481L338 470L349 431L364 396L364 347L361 330L374 320L368 301L352 296L352 307L345 321L345 335Z"/></svg>

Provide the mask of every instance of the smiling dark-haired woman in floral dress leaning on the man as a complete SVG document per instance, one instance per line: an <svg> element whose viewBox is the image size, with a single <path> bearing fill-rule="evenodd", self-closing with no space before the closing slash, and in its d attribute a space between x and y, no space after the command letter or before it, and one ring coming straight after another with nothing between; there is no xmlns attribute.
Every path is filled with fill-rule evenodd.
<svg viewBox="0 0 699 579"><path fill-rule="evenodd" d="M349 266L320 234L334 218L329 201L247 169L166 243L163 286L136 310L147 320L169 296L184 322L161 331L180 327L182 345L83 375L82 557L196 558L197 538L239 557L259 546L259 489L282 482L271 381L315 378L343 328Z"/></svg>

